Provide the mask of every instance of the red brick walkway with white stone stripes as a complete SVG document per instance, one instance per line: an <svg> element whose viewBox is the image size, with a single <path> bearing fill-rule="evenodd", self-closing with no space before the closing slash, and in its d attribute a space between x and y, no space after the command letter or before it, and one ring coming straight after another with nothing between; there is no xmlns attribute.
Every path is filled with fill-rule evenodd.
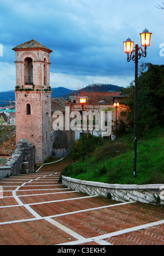
<svg viewBox="0 0 164 256"><path fill-rule="evenodd" d="M163 207L71 191L63 164L0 180L0 245L164 245Z"/></svg>

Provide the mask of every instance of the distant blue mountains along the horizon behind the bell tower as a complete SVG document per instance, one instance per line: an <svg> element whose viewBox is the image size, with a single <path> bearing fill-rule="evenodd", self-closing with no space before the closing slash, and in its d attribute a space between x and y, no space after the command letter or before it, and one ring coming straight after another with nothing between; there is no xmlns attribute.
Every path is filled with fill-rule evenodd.
<svg viewBox="0 0 164 256"><path fill-rule="evenodd" d="M90 84L90 85L87 85L83 90L91 91L93 90L93 86L94 86L94 90L96 89L96 91L121 91L122 89L124 89L124 87L120 87L112 84L93 84L93 85ZM62 97L67 100L69 99L69 95L73 95L74 92L76 93L78 92L78 90L71 90L65 87L51 88L51 90L52 90L52 94L51 94L52 98ZM5 103L2 101L10 101L10 99L11 101L15 101L14 91L0 92L0 105Z"/></svg>

